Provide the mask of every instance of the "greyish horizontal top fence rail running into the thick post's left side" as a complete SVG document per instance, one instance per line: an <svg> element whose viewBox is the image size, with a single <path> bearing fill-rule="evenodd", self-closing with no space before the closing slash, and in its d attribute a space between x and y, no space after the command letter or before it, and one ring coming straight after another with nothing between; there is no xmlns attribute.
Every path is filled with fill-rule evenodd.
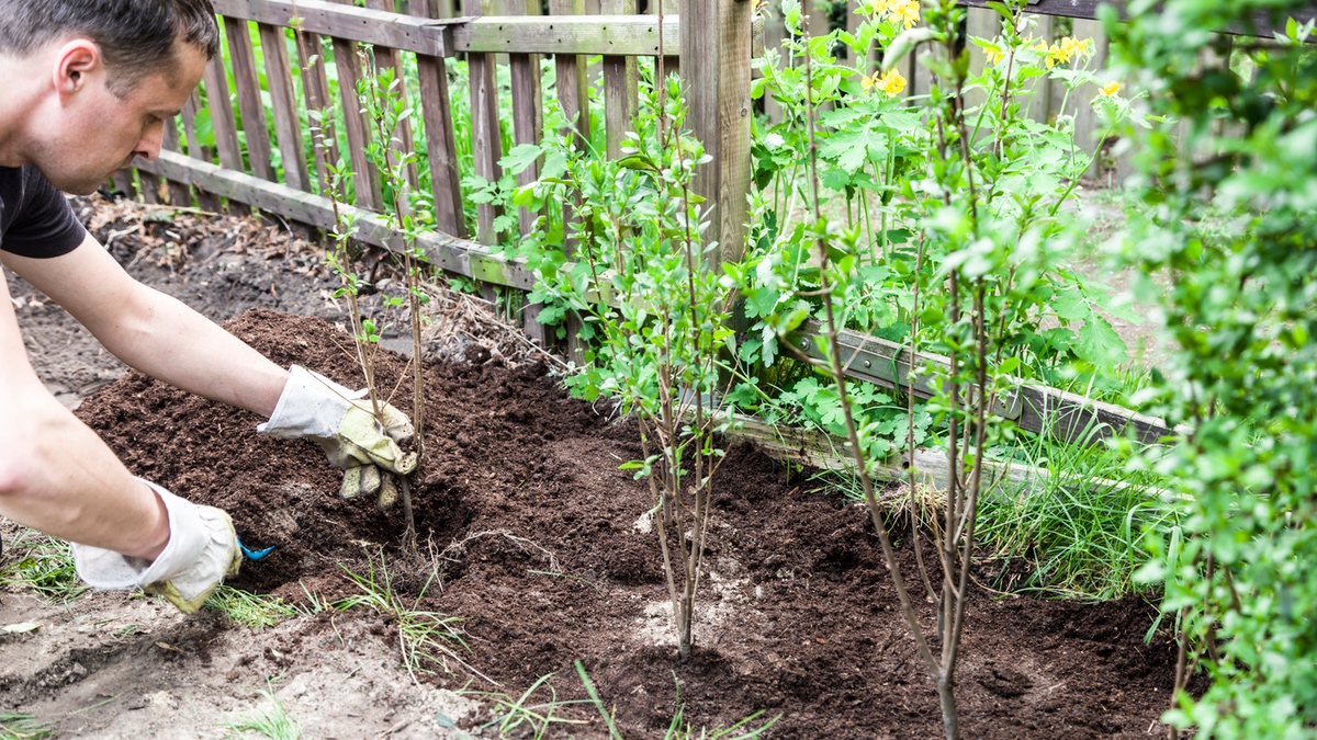
<svg viewBox="0 0 1317 740"><path fill-rule="evenodd" d="M583 9L583 7L582 7ZM664 17L664 37L676 40L680 20ZM676 45L673 45L676 46ZM453 26L453 49L522 54L658 54L653 16L579 16L482 18Z"/></svg>

